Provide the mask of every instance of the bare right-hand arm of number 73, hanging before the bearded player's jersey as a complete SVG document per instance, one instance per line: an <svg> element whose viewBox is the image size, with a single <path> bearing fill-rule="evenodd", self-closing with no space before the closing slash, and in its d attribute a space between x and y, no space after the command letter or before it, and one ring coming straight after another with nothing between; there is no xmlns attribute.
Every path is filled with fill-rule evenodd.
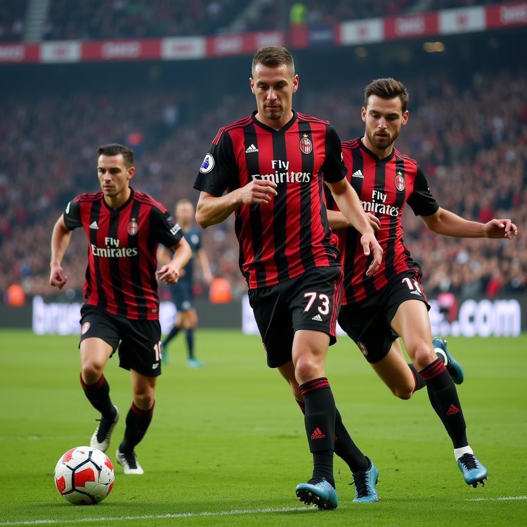
<svg viewBox="0 0 527 527"><path fill-rule="evenodd" d="M360 243L363 246L364 254L369 256L370 251L373 251L372 264L366 270L366 276L372 276L380 266L383 249L375 238L375 231L370 225L362 203L360 203L357 193L347 179L341 179L336 183L327 182L327 184L335 198L335 203L337 203L344 217L362 234Z"/></svg>

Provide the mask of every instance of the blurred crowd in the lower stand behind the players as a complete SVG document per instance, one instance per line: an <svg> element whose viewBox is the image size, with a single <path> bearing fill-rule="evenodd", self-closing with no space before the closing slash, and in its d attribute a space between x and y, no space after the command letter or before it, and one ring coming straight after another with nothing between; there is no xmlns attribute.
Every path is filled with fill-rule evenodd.
<svg viewBox="0 0 527 527"><path fill-rule="evenodd" d="M363 85L315 91L301 109L330 119L343 140L355 138L363 133ZM511 217L519 226L512 243L456 240L428 232L408 208L404 239L423 266L425 289L490 296L527 290L527 70L475 75L462 88L439 75L407 86L411 117L396 146L421 162L438 203L469 219ZM70 199L97 190L97 145L118 141L135 149L134 188L169 208L183 197L196 202L192 183L217 129L252 110L253 101L241 100L247 102L231 94L221 104L204 103L197 93L161 89L3 99L0 292L12 283L31 294L55 292L48 286L51 230ZM228 278L235 296L245 292L232 217L204 231L204 247L213 274ZM64 260L72 297L80 298L85 251L84 235L76 232Z"/></svg>

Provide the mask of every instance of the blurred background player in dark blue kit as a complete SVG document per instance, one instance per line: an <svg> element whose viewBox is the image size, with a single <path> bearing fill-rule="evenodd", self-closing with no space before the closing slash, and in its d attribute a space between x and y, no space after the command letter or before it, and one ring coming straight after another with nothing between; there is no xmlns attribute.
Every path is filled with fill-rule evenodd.
<svg viewBox="0 0 527 527"><path fill-rule="evenodd" d="M194 356L194 328L198 324L198 314L194 308L194 295L192 287L194 285L194 255L196 255L201 270L203 272L203 280L210 285L212 282L212 273L210 272L209 259L205 249L201 246L201 232L192 225L194 221L194 207L188 199L181 199L175 204L175 220L181 227L184 239L187 240L192 249L192 257L188 264L181 272L181 276L177 282L170 287L170 294L177 309L177 314L174 322L174 327L169 334L162 341L163 346L163 362L168 362L167 345L178 335L181 329L185 330L187 337L187 349L189 358L187 359L187 366L190 368L200 368L204 364ZM168 261L171 255L167 249L161 249L160 261Z"/></svg>

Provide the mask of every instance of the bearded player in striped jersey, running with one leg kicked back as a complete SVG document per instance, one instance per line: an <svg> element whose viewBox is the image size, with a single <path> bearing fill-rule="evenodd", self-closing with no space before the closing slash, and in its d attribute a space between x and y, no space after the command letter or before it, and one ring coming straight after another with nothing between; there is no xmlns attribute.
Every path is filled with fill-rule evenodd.
<svg viewBox="0 0 527 527"><path fill-rule="evenodd" d="M408 92L394 79L377 79L365 88L363 137L343 143L347 178L370 213L383 262L367 276L369 257L360 250L355 229L327 194L329 224L337 230L344 265L344 294L338 317L373 369L394 395L409 399L426 386L432 407L451 437L456 462L467 484L484 484L487 470L466 437L465 419L454 383L463 372L441 338L432 339L421 267L403 243L401 215L405 203L433 232L456 238L511 240L516 226L509 219L485 224L468 221L435 201L418 163L394 148L408 121ZM331 201L331 202L329 202ZM412 360L407 365L398 337ZM409 366L409 367L408 367Z"/></svg>

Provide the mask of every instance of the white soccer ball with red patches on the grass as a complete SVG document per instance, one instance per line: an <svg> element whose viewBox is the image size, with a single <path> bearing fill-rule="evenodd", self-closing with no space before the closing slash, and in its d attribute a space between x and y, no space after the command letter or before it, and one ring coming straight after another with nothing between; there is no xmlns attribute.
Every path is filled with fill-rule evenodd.
<svg viewBox="0 0 527 527"><path fill-rule="evenodd" d="M55 466L54 480L58 493L75 505L103 501L112 491L114 479L110 458L91 446L72 448L61 456Z"/></svg>

